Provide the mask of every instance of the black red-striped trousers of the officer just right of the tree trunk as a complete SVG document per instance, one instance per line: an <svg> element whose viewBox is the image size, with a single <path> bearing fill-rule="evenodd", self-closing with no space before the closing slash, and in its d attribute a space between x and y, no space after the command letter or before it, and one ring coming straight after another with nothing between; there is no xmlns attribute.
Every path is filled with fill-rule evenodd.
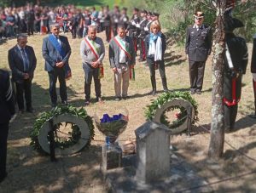
<svg viewBox="0 0 256 193"><path fill-rule="evenodd" d="M241 98L241 77L236 78L236 100ZM224 98L232 102L232 93L235 92L234 86L232 86L232 77L224 74ZM227 130L233 129L236 122L238 104L226 105L224 104L224 127Z"/></svg>

